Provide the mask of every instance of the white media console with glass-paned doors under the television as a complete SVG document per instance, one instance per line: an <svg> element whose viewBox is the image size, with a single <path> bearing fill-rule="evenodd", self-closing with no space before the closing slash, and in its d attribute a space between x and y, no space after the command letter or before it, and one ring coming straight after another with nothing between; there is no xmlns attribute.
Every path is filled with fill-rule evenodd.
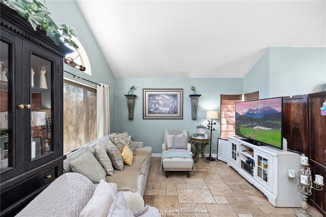
<svg viewBox="0 0 326 217"><path fill-rule="evenodd" d="M256 146L241 137L229 137L228 166L255 185L276 207L301 207L297 185L288 181L288 170L297 171L301 155L270 146Z"/></svg>

